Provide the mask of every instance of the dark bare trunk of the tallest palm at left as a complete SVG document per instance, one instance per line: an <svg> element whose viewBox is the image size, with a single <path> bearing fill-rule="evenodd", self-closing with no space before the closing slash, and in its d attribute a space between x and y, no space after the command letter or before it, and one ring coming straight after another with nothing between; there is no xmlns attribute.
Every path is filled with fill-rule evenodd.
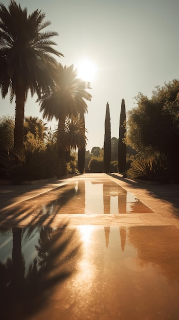
<svg viewBox="0 0 179 320"><path fill-rule="evenodd" d="M14 147L20 150L23 147L23 119L25 105L25 93L23 89L16 90L15 104Z"/></svg>

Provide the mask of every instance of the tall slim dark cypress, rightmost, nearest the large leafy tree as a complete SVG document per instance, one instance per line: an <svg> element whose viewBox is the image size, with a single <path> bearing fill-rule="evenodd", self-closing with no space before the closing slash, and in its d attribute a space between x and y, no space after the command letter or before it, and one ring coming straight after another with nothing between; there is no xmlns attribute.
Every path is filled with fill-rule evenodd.
<svg viewBox="0 0 179 320"><path fill-rule="evenodd" d="M124 138L126 134L126 113L125 113L125 102L122 99L120 120L119 120L119 142L118 142L118 171L120 173L125 171L126 164L126 143Z"/></svg>

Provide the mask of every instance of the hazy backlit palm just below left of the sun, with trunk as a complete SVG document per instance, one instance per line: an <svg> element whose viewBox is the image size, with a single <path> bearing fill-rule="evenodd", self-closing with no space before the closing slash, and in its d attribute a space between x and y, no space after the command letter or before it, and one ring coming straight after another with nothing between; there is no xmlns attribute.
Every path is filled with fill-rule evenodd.
<svg viewBox="0 0 179 320"><path fill-rule="evenodd" d="M51 121L54 117L58 120L58 129L65 132L65 120L68 116L78 117L87 112L87 101L91 101L92 96L86 91L90 89L89 82L77 78L77 72L73 65L62 66L59 63L56 87L38 99L40 111L43 111L43 119ZM59 157L65 159L65 140L61 141Z"/></svg>

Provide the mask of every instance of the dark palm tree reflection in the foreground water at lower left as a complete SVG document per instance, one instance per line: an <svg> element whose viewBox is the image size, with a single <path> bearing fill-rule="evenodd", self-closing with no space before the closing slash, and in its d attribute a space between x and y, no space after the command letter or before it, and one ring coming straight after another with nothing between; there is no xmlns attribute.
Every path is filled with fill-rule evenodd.
<svg viewBox="0 0 179 320"><path fill-rule="evenodd" d="M0 263L0 274L4 279L1 286L3 305L0 310L3 320L24 319L46 305L55 286L74 271L76 256L79 256L76 255L79 244L70 244L74 230L68 230L66 226L60 230L41 228L39 245L36 246L38 257L24 275L24 261L20 253L21 232L13 231L14 261L11 263L8 259L6 265Z"/></svg>

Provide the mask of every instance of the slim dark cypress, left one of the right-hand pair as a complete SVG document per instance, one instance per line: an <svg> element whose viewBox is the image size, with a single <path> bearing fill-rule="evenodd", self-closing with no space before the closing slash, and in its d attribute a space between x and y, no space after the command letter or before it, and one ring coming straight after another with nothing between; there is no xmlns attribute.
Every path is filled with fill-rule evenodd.
<svg viewBox="0 0 179 320"><path fill-rule="evenodd" d="M109 103L106 105L106 118L105 118L105 141L104 141L104 169L105 172L110 172L111 163L111 119Z"/></svg>

